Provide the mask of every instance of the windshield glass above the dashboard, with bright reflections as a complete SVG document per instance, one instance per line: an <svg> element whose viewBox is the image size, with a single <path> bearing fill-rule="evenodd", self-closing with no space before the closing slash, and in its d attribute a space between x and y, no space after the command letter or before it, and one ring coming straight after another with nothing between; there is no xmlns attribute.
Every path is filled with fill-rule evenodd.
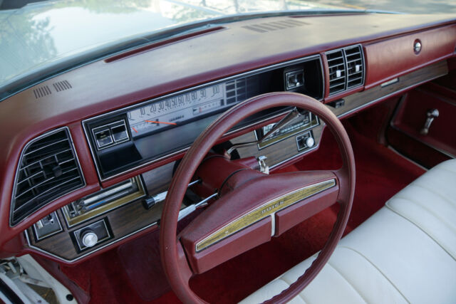
<svg viewBox="0 0 456 304"><path fill-rule="evenodd" d="M32 3L14 7L24 2ZM189 31L192 24L204 25L201 21L217 23L221 18L227 21L227 16L259 12L456 11L456 4L439 0L420 1L426 3L424 6L416 5L417 1L413 1L413 5L408 2L410 0L3 0L3 3L0 1L0 100L71 66L115 50L159 40L164 38L159 33L165 30L168 36ZM185 25L190 26L182 28Z"/></svg>

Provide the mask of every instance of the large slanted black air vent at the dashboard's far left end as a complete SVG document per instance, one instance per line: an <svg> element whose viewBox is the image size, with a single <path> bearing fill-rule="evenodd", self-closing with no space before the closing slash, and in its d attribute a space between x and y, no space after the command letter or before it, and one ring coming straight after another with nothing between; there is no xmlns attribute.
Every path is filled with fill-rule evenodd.
<svg viewBox="0 0 456 304"><path fill-rule="evenodd" d="M84 184L68 128L31 140L19 159L11 199L11 226Z"/></svg>

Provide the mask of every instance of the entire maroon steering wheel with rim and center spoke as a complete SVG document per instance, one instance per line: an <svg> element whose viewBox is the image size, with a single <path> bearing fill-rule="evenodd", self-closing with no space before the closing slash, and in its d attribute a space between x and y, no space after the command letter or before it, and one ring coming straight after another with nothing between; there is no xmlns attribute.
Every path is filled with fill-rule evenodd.
<svg viewBox="0 0 456 304"><path fill-rule="evenodd" d="M238 122L261 110L284 106L313 112L326 123L341 151L341 169L268 175L222 155L207 158L217 140ZM195 172L203 184L218 185L219 198L177 236L182 200ZM223 182L217 184L217 180ZM190 289L194 274L279 236L337 201L341 208L336 224L316 260L295 283L265 303L291 300L316 277L336 248L346 228L354 192L355 160L350 140L336 115L323 104L297 93L269 93L239 103L199 135L172 178L160 231L162 264L172 289L184 303L204 303Z"/></svg>

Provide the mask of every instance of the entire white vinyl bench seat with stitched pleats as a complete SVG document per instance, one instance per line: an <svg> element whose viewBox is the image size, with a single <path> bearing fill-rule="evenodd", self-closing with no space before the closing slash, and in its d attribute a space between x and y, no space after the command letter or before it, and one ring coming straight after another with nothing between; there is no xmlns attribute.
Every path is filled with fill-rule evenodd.
<svg viewBox="0 0 456 304"><path fill-rule="evenodd" d="M291 303L456 303L456 159L432 168L345 236ZM294 283L306 259L241 303Z"/></svg>

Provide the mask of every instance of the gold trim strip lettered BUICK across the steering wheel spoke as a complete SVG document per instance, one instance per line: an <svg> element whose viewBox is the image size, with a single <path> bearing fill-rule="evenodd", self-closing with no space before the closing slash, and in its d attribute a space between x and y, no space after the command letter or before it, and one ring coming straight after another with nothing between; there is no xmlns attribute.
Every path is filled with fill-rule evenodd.
<svg viewBox="0 0 456 304"><path fill-rule="evenodd" d="M312 195L318 194L319 192L334 186L336 186L336 179L329 179L325 182L312 184L268 201L267 203L258 206L252 211L249 211L247 214L244 214L243 216L240 216L229 224L223 226L213 234L202 239L202 241L199 241L196 244L196 251L202 251L205 248L214 245L214 243L222 241L228 236L232 236L242 229L255 224L257 221L265 219L267 216L274 216L277 211L285 209L286 207L296 204L298 201L307 199Z"/></svg>

